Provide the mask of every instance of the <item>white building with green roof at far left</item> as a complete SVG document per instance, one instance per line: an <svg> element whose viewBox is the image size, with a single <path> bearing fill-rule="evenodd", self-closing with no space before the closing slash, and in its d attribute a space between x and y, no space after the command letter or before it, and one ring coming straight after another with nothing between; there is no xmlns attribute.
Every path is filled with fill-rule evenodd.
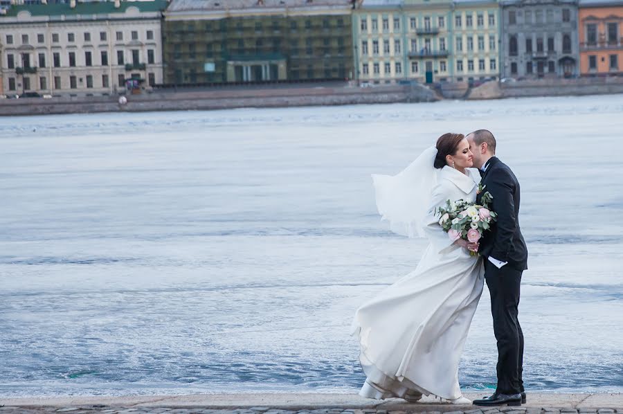
<svg viewBox="0 0 623 414"><path fill-rule="evenodd" d="M165 1L30 4L0 15L3 91L55 96L162 82Z"/></svg>

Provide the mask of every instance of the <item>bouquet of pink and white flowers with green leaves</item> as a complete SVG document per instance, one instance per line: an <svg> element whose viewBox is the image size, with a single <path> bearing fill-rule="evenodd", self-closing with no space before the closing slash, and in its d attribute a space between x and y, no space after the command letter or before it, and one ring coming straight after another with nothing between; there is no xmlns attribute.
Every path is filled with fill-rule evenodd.
<svg viewBox="0 0 623 414"><path fill-rule="evenodd" d="M493 196L487 191L482 195L482 205L460 199L448 200L445 207L437 208L436 213L441 216L439 224L448 233L450 240L461 238L470 243L478 242L485 231L491 228L491 223L496 221L496 213L489 209L492 199ZM478 253L470 251L469 254L474 256Z"/></svg>

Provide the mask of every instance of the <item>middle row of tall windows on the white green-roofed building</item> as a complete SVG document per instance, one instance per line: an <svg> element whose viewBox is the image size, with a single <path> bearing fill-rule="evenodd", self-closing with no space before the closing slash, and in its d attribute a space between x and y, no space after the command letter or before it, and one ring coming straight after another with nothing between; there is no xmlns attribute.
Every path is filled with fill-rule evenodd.
<svg viewBox="0 0 623 414"><path fill-rule="evenodd" d="M147 49L147 63L148 64L155 63L154 53L155 53L154 49ZM138 51L137 49L132 50L132 64L141 63L140 55L141 55L141 51ZM46 53L39 53L37 57L38 57L39 68L45 68L47 66ZM17 62L17 60L19 60L19 62ZM52 61L53 61L53 67L55 68L59 68L61 66L70 66L70 67L77 66L75 52L67 53L68 64L66 65L62 64L63 62L61 61L61 54L59 52L54 52L52 54ZM12 53L7 53L6 64L7 64L8 69L15 69L16 66L21 66L22 68L30 68L32 67L32 64L30 62L30 53L21 53L21 55L17 55L17 56L13 55ZM125 64L125 51L117 51L117 64L118 65ZM101 66L109 65L108 51L100 52L100 65ZM93 53L91 51L84 52L84 65L80 65L80 66L94 66Z"/></svg>

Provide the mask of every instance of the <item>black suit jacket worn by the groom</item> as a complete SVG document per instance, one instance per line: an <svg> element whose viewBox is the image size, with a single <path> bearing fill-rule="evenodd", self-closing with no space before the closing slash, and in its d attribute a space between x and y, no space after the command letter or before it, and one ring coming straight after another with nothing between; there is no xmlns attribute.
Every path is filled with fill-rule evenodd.
<svg viewBox="0 0 623 414"><path fill-rule="evenodd" d="M513 267L527 269L527 248L519 228L519 181L508 166L497 157L489 160L489 165L480 184L485 189L478 194L480 203L482 194L489 192L493 196L489 207L498 215L491 230L485 232L480 240L480 254L488 258L508 262Z"/></svg>

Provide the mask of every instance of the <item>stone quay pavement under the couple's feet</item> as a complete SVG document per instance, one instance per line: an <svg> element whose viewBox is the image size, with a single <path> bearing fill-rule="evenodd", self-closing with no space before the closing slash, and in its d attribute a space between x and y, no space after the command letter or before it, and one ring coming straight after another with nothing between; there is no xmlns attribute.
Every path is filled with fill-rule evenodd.
<svg viewBox="0 0 623 414"><path fill-rule="evenodd" d="M467 393L470 399L483 394ZM3 405L3 406L2 406ZM153 414L622 414L623 394L528 393L523 406L456 406L425 397L377 401L352 394L154 395L1 399L3 413Z"/></svg>

